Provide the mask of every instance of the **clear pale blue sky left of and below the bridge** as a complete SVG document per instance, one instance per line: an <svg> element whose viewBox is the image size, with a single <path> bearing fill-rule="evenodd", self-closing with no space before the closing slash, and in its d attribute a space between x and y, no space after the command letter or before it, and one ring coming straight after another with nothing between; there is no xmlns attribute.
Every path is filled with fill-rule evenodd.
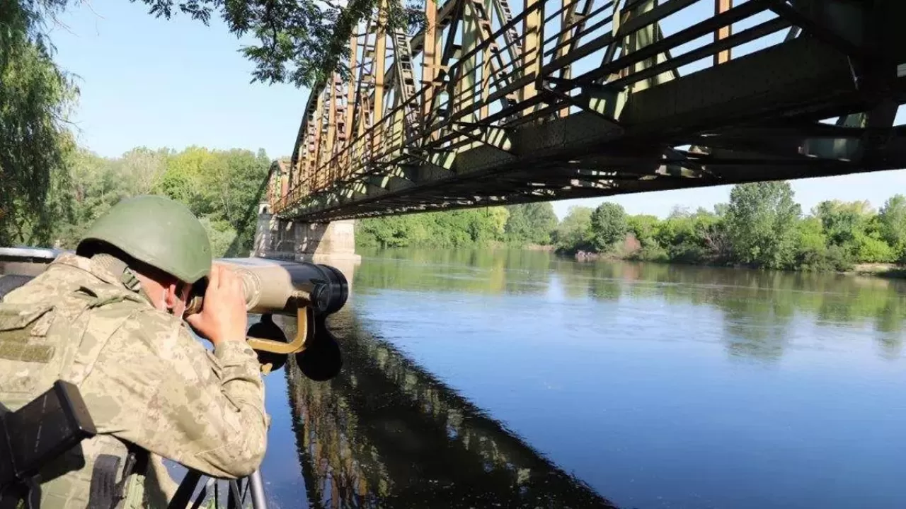
<svg viewBox="0 0 906 509"><path fill-rule="evenodd" d="M56 60L80 77L75 120L83 146L108 157L137 146L262 148L271 158L292 152L308 91L250 84L253 65L218 20L210 27L181 14L166 21L141 3L102 0L73 8L60 21L64 26L53 30ZM896 123L904 120L901 108ZM879 207L892 194L906 193L906 170L792 184L805 211L834 198L868 199ZM710 208L728 196L729 187L707 187L606 200L630 214L666 216L673 206ZM554 210L563 217L569 206L602 201L559 201Z"/></svg>

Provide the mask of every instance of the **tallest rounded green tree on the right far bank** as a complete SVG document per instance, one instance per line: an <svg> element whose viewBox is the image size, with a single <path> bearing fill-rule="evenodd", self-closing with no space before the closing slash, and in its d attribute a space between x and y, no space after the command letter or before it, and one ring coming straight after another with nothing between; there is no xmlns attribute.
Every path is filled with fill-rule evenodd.
<svg viewBox="0 0 906 509"><path fill-rule="evenodd" d="M730 191L727 234L737 261L771 269L794 261L802 212L788 182L740 184Z"/></svg>

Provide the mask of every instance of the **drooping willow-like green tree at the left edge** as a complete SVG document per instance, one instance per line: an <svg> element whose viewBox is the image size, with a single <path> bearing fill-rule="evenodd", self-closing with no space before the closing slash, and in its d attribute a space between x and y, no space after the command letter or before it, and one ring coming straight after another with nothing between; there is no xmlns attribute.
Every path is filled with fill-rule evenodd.
<svg viewBox="0 0 906 509"><path fill-rule="evenodd" d="M50 245L71 214L66 125L78 91L44 33L63 5L0 0L0 245Z"/></svg>

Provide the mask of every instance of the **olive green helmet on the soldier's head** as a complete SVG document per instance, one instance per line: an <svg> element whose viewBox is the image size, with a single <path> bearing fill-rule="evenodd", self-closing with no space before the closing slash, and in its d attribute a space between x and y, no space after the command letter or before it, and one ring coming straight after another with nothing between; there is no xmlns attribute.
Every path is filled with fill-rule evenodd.
<svg viewBox="0 0 906 509"><path fill-rule="evenodd" d="M95 221L79 247L94 240L114 245L186 283L195 283L211 271L205 227L186 206L168 197L121 200Z"/></svg>

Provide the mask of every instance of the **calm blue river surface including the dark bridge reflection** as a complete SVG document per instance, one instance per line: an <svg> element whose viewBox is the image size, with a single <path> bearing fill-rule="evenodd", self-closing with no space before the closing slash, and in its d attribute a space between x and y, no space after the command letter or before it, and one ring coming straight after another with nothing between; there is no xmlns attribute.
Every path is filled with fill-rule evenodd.
<svg viewBox="0 0 906 509"><path fill-rule="evenodd" d="M362 255L342 375L266 379L276 507L906 507L906 282Z"/></svg>

